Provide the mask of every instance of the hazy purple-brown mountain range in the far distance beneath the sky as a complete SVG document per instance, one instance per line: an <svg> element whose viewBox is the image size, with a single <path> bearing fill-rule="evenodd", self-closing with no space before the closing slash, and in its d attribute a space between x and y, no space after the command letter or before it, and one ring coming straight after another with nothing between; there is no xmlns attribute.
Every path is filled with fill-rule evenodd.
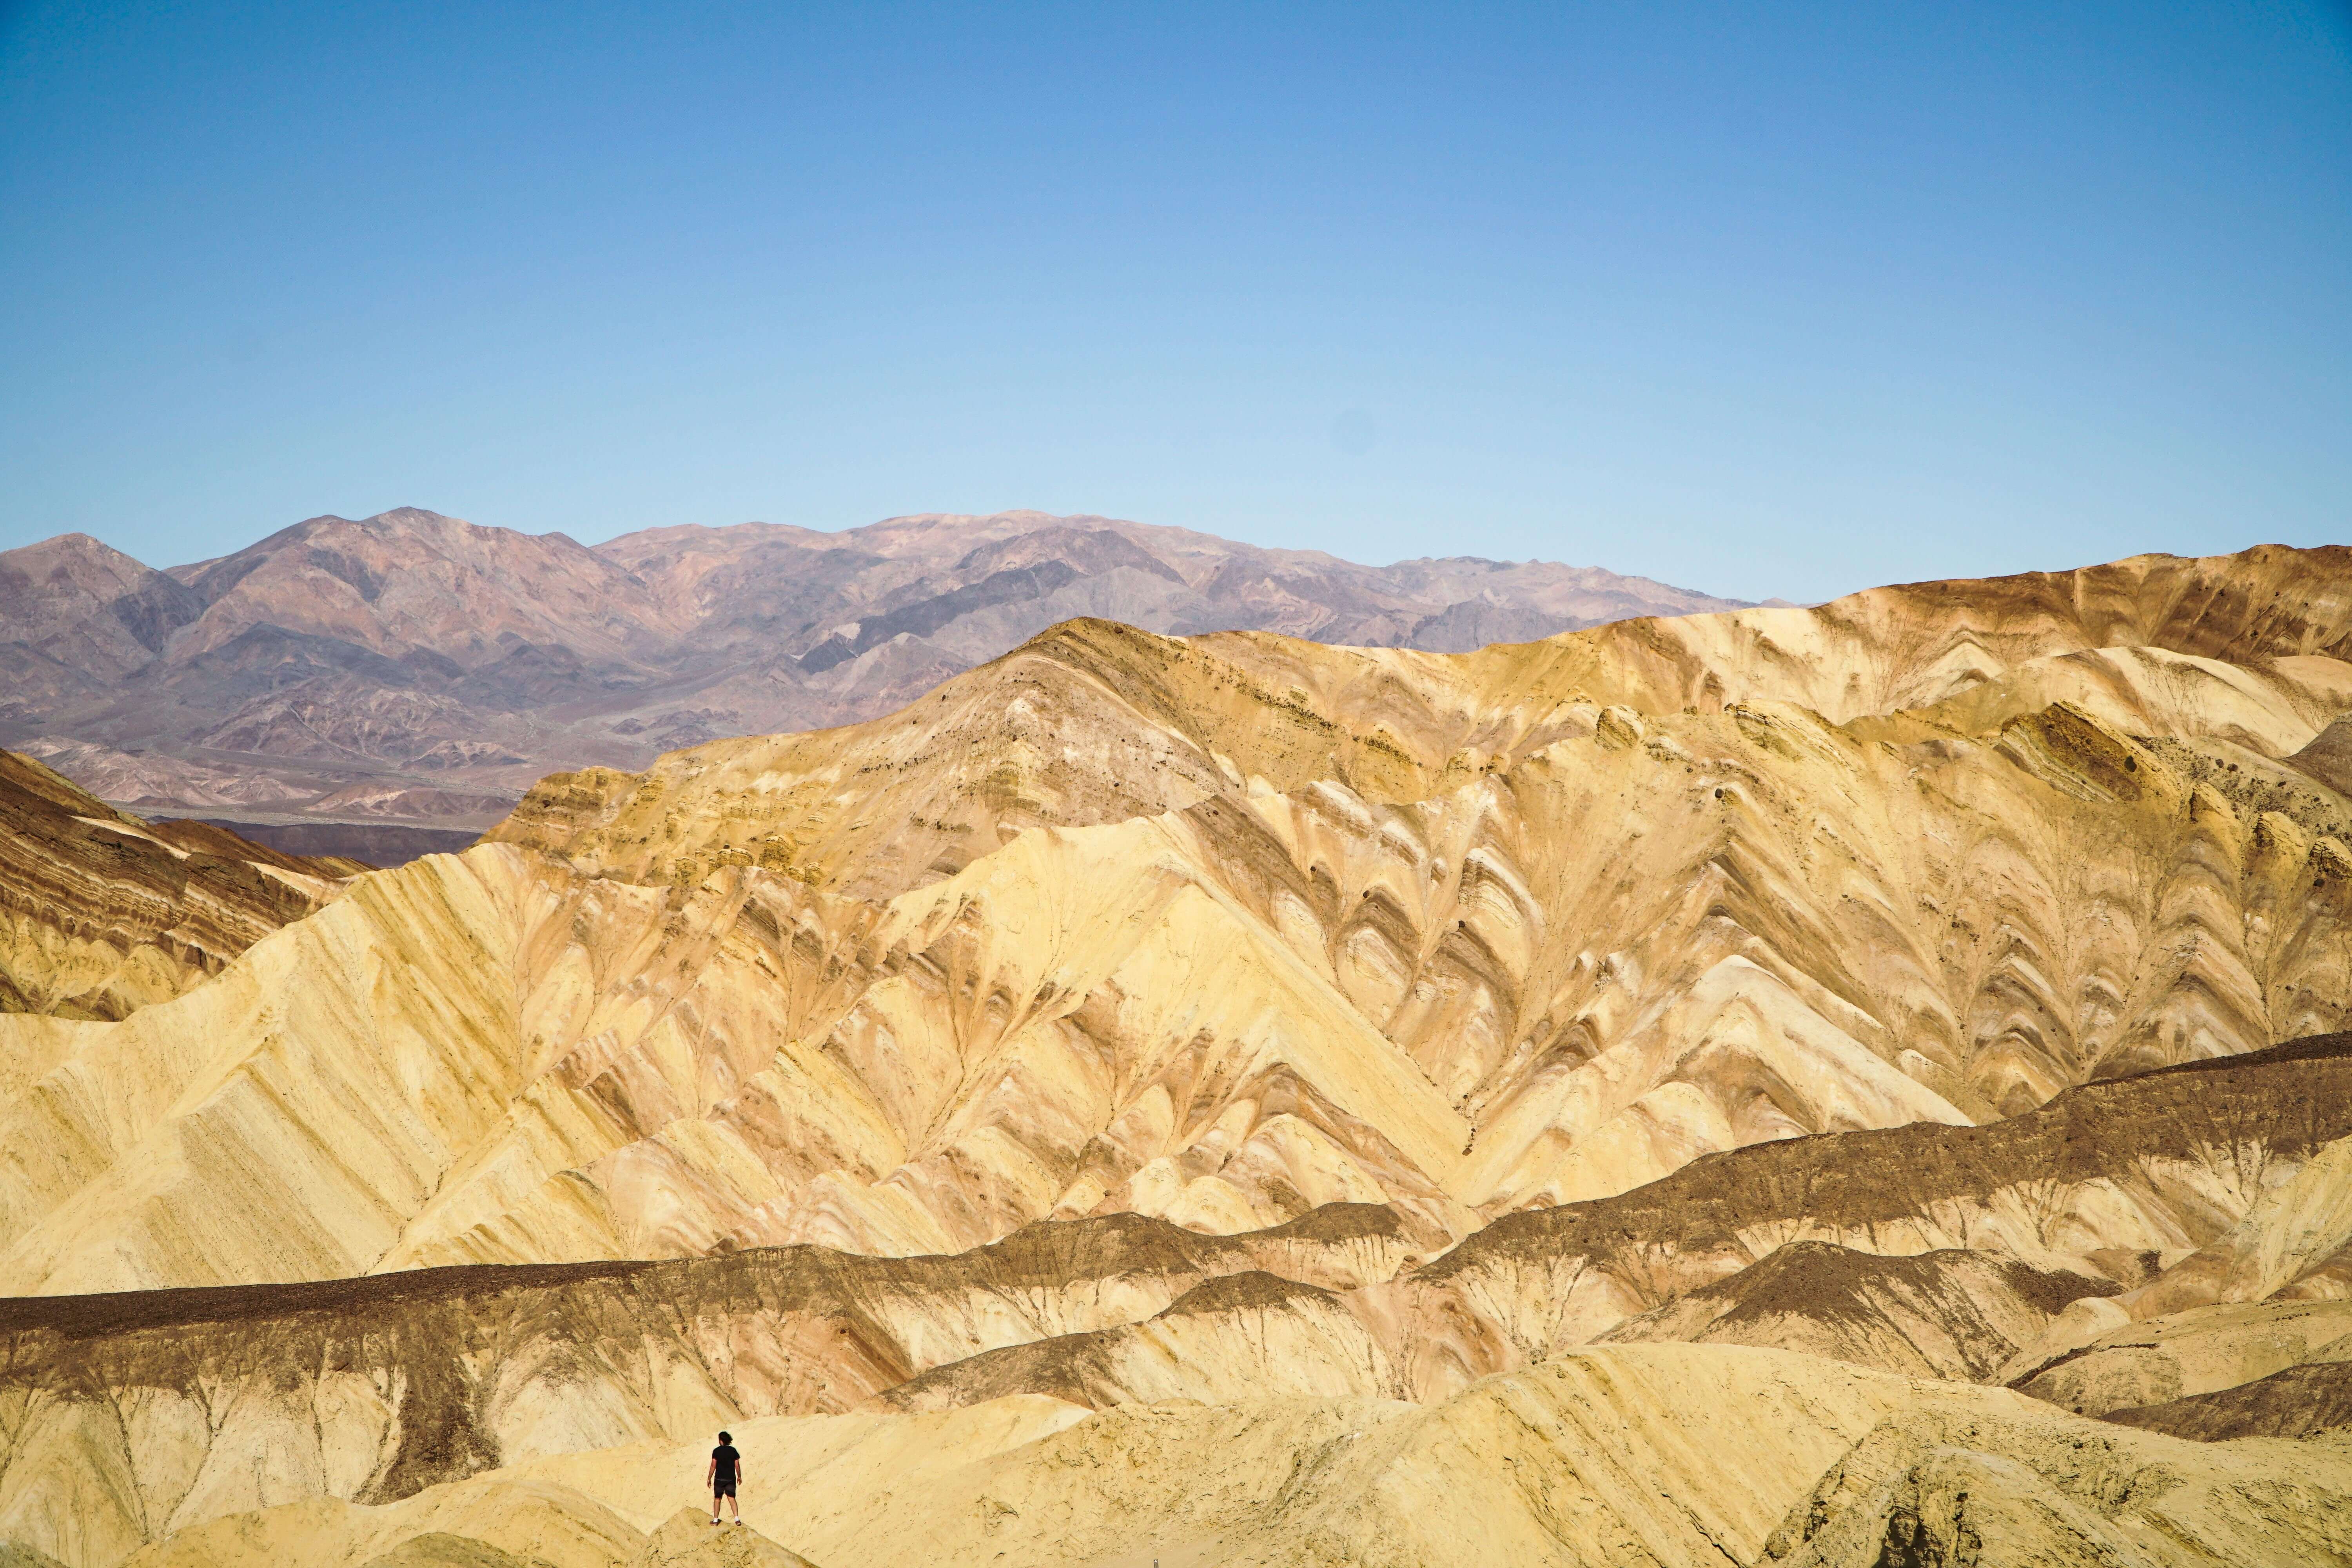
<svg viewBox="0 0 2352 1568"><path fill-rule="evenodd" d="M61 534L0 552L0 745L146 813L466 827L555 769L870 719L1073 616L1465 651L1740 604L1044 512L588 548L400 508L165 571Z"/></svg>

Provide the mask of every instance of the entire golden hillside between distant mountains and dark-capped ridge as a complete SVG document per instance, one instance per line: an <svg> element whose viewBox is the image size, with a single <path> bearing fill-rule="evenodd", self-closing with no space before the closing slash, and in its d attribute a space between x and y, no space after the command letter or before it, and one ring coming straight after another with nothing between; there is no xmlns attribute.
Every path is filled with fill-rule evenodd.
<svg viewBox="0 0 2352 1568"><path fill-rule="evenodd" d="M2274 757L2352 693L2340 574L2136 557L1465 656L1068 623L889 719L550 778L508 844L120 1025L0 1018L0 1269L1341 1199L1435 1248L2331 1030L2352 802ZM2060 1229L2159 1229L2131 1201ZM2032 1194L1992 1220L2082 1251Z"/></svg>

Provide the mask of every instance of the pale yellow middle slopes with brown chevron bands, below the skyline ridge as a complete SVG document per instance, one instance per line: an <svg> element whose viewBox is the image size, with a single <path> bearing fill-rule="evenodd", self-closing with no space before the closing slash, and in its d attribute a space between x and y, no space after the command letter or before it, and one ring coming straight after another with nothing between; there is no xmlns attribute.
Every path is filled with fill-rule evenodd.
<svg viewBox="0 0 2352 1568"><path fill-rule="evenodd" d="M181 1001L0 1020L45 1063L0 1110L0 1258L127 1288L1327 1201L1442 1241L2352 994L2340 842L2079 710L1635 724L1411 806L1033 830L887 905L513 846L379 875Z"/></svg>

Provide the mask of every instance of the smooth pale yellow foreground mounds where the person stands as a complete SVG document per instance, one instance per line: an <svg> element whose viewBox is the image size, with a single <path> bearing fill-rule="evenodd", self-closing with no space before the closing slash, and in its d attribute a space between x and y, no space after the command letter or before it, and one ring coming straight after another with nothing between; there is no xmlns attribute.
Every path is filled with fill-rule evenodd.
<svg viewBox="0 0 2352 1568"><path fill-rule="evenodd" d="M2324 1446L2192 1443L1999 1389L1766 1349L1578 1352L1430 1408L1002 1406L750 1422L736 1434L743 1516L811 1561L870 1568L1155 1556L1244 1568L1682 1568L1766 1554L1875 1563L1900 1521L1924 1516L1950 1542L1955 1495L1966 1490L1959 1519L1980 1533L1983 1561L2082 1561L2053 1556L2049 1542L2089 1540L2131 1552L2169 1542L2173 1556L2159 1561L2284 1566L2340 1552L2352 1500L2352 1460ZM296 1505L223 1519L132 1561L259 1568L285 1561L270 1554L294 1540L306 1561L367 1561L358 1554L433 1523L501 1549L532 1530L541 1547L562 1544L567 1556L548 1556L562 1568L595 1561L581 1544L604 1542L604 1561L621 1566L642 1537L626 1540L619 1521L687 1535L666 1521L694 1497L701 1467L703 1446L546 1458L383 1509ZM2122 1486L2126 1476L2164 1486ZM524 1509L489 1519L496 1500L574 1500L583 1521L619 1521L564 1537Z"/></svg>

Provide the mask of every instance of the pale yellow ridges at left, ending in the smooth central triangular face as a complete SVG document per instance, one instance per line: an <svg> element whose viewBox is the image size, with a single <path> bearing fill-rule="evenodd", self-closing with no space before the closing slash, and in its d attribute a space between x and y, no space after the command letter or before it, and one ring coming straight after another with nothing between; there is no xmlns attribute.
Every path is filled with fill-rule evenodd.
<svg viewBox="0 0 2352 1568"><path fill-rule="evenodd" d="M510 849L372 877L167 1009L0 1025L47 1065L0 1107L31 1157L0 1173L7 1267L54 1293L727 1234L955 1251L1054 1213L1169 1086L1216 1117L1101 1147L1136 1161L1115 1180L1197 1147L1232 1199L1195 1222L1388 1197L1472 1225L1439 1185L1458 1114L1176 851L1155 823L1014 844L861 914L863 990L755 980L795 959L771 907L823 917L755 872L675 936L659 893Z"/></svg>

